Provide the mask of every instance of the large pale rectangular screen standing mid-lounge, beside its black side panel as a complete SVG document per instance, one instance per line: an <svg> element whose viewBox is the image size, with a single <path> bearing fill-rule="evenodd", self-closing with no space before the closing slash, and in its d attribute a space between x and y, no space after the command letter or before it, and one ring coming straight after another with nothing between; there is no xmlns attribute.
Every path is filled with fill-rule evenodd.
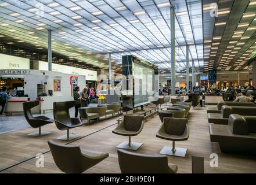
<svg viewBox="0 0 256 185"><path fill-rule="evenodd" d="M150 102L150 97L154 97L154 69L140 65L134 60L134 106L144 105Z"/></svg>

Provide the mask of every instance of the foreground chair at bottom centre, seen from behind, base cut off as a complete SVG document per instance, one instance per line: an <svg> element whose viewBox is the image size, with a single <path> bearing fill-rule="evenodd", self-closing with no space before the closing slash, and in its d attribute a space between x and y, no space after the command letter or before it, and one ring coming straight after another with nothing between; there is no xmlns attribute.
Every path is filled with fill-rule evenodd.
<svg viewBox="0 0 256 185"><path fill-rule="evenodd" d="M176 173L177 165L168 164L165 155L145 155L117 150L118 162L122 173Z"/></svg>

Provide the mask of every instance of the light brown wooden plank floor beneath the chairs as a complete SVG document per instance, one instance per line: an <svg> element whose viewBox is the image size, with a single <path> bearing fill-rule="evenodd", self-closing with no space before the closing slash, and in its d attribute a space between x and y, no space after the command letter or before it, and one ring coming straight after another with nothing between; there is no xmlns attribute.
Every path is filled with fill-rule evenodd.
<svg viewBox="0 0 256 185"><path fill-rule="evenodd" d="M120 173L116 146L122 141L128 140L128 138L112 134L111 131L116 127L116 124L114 123L117 122L117 118L118 117L110 118L91 125L83 125L82 127L71 130L71 132L74 131L76 134L88 136L85 136L70 145L80 145L84 150L109 153L108 158L85 173ZM150 119L145 123L142 132L138 136L132 137L132 140L144 143L144 145L136 152L143 154L158 154L163 146L172 145L168 140L156 138L156 132L160 125L161 121L156 115L153 119ZM219 150L218 143L212 143L210 141L206 107L190 110L189 128L189 139L182 142L176 142L176 147L185 147L188 149L186 157L180 158L168 156L168 161L170 163L178 165L178 173L192 173L192 156L204 157L205 173L256 173L256 158L223 154ZM55 124L46 125L45 127L42 127L42 129L52 131L53 133L42 136L41 138L35 138L28 136L27 134L36 131L36 129L27 128L1 134L0 171L1 169L8 168L18 162L34 157L38 153L48 151L49 147L47 145L47 140L66 134L65 131L59 131ZM99 129L102 130L98 131ZM91 134L93 132L95 133ZM56 141L60 142L59 140ZM218 168L210 167L211 153L218 154ZM62 173L55 165L51 152L44 154L44 168L37 168L35 165L36 160L37 158L33 158L26 162L22 162L19 165L15 165L12 168L2 171L2 173Z"/></svg>

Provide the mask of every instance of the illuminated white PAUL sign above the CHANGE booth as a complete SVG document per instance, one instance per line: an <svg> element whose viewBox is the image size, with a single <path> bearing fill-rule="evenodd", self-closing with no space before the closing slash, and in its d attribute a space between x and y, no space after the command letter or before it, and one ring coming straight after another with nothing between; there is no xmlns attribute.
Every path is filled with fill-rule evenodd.
<svg viewBox="0 0 256 185"><path fill-rule="evenodd" d="M0 69L30 69L29 58L0 54Z"/></svg>

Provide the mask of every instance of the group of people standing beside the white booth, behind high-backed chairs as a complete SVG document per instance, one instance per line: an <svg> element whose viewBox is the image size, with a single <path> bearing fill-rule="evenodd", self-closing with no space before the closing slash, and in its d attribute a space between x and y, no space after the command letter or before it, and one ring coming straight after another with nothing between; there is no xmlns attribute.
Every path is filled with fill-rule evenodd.
<svg viewBox="0 0 256 185"><path fill-rule="evenodd" d="M75 87L75 117L78 117L78 108L88 106L91 100L95 98L98 98L95 88L90 88L89 86L86 86L82 91L80 91L80 87Z"/></svg>

